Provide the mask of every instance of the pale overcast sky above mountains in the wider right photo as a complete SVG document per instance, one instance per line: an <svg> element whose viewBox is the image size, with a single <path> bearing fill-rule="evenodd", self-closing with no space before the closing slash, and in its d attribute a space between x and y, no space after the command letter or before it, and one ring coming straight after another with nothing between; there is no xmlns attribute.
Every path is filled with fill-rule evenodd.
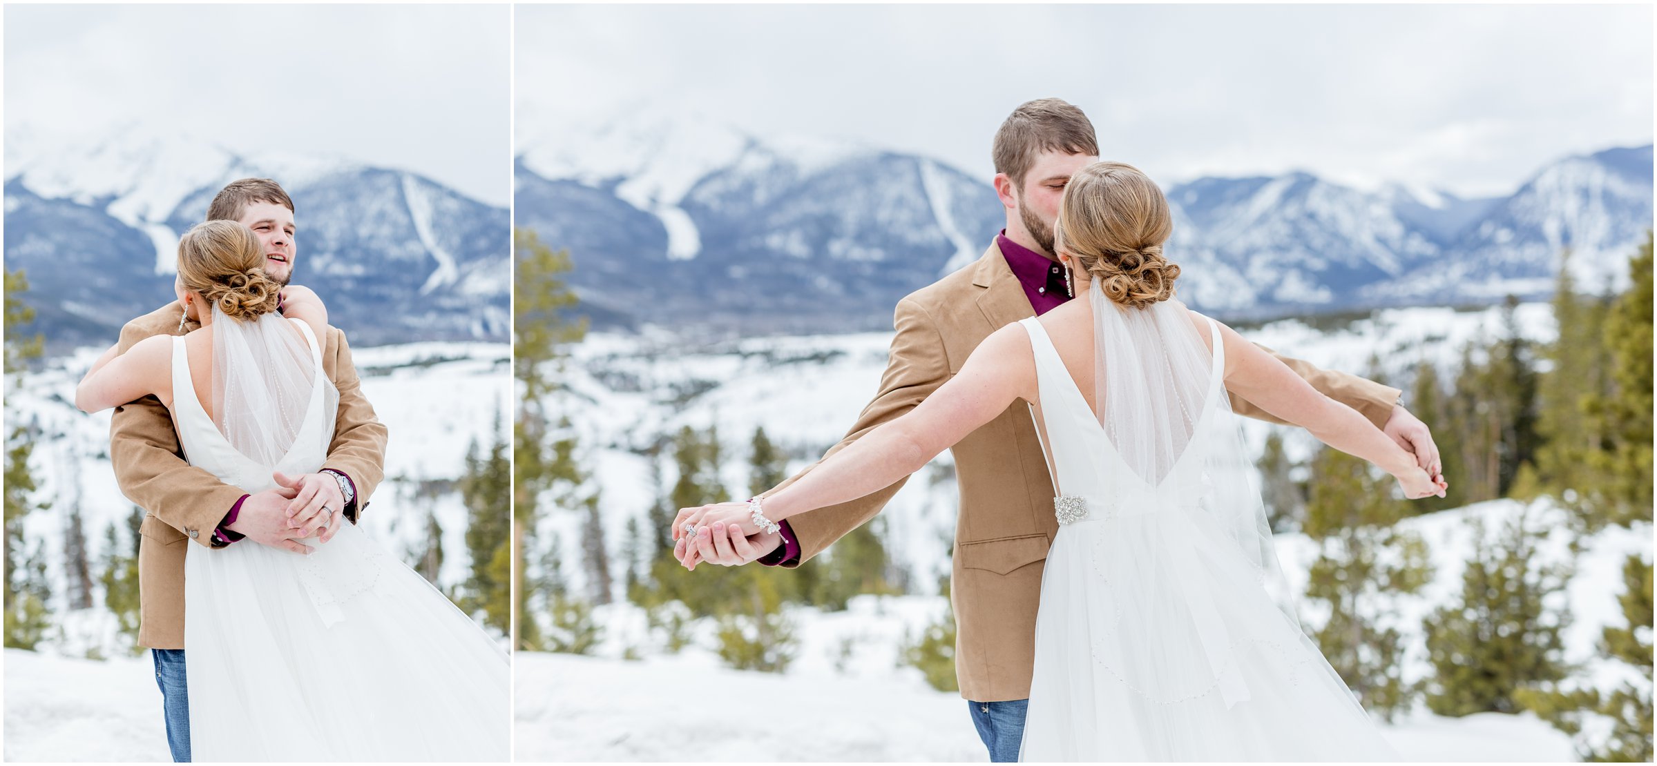
<svg viewBox="0 0 1657 766"><path fill-rule="evenodd" d="M1652 8L1519 5L517 7L519 136L623 109L993 174L1022 101L1087 111L1165 182L1301 169L1506 194L1652 141Z"/></svg>

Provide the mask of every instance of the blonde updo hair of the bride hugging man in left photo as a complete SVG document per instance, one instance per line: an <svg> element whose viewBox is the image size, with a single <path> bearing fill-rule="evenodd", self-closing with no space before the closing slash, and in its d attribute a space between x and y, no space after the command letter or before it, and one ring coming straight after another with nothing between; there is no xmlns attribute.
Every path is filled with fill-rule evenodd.
<svg viewBox="0 0 1657 766"><path fill-rule="evenodd" d="M197 223L179 238L179 280L230 319L277 309L282 285L265 275L258 235L234 220Z"/></svg>

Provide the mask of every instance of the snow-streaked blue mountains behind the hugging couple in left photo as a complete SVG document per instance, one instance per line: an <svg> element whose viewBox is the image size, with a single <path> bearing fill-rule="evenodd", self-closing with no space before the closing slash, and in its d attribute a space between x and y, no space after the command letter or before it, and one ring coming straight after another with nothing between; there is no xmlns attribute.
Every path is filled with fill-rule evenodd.
<svg viewBox="0 0 1657 766"><path fill-rule="evenodd" d="M293 197L297 281L356 344L504 341L509 213L413 172L335 157L244 157L128 126L99 139L7 134L5 256L53 351L109 342L172 299L177 238L229 180ZM15 146L13 146L15 144Z"/></svg>

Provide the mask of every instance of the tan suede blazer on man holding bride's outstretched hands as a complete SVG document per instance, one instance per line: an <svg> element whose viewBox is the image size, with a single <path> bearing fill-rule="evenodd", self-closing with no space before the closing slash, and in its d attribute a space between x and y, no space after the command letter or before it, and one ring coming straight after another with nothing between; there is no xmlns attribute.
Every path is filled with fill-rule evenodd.
<svg viewBox="0 0 1657 766"><path fill-rule="evenodd" d="M896 336L880 392L845 440L827 455L918 405L961 371L968 354L984 338L1034 314L1024 288L994 245L976 263L903 298L896 308ZM1278 359L1377 427L1387 422L1399 402L1399 389L1321 371L1299 359ZM1236 394L1231 394L1231 407L1239 415L1283 424ZM1029 407L1024 402L1007 407L949 452L961 491L949 587L961 697L973 701L1024 700L1029 698L1036 657L1042 564L1047 544L1059 531L1052 480ZM810 468L784 485L807 472ZM900 486L903 481L850 503L790 518L789 526L800 543L800 561L873 518Z"/></svg>

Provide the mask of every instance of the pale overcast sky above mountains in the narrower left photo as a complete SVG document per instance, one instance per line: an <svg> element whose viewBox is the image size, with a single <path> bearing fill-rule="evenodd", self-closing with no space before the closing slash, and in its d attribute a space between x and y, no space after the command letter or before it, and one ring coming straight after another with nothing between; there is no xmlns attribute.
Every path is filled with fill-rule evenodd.
<svg viewBox="0 0 1657 766"><path fill-rule="evenodd" d="M7 5L5 122L138 121L239 154L326 154L510 199L502 5Z"/></svg>

